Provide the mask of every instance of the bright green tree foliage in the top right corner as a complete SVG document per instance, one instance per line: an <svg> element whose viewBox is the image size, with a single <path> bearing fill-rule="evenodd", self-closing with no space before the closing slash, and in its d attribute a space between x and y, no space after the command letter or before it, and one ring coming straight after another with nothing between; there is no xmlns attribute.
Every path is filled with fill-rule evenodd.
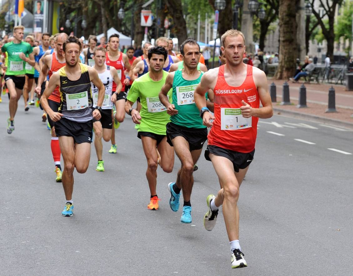
<svg viewBox="0 0 353 276"><path fill-rule="evenodd" d="M351 40L353 2L346 1L341 11L343 13L337 17L337 23L335 24L335 41L339 41L341 37Z"/></svg>

